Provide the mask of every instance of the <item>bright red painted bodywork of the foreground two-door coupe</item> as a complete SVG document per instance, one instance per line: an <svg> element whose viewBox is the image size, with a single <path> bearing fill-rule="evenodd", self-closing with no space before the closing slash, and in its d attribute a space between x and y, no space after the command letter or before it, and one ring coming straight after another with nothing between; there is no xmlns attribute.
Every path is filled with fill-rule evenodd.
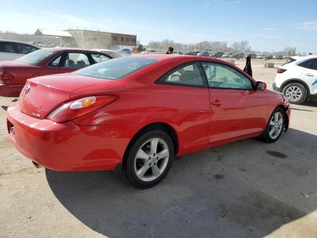
<svg viewBox="0 0 317 238"><path fill-rule="evenodd" d="M22 91L20 95L26 102L20 97L19 103L7 111L11 143L32 160L53 170L112 170L122 161L133 136L150 123L162 122L174 129L178 138L176 156L180 156L259 136L279 105L288 108L286 115L290 117L288 102L277 92L154 83L175 66L197 60L224 63L245 74L227 62L196 56L141 57L159 61L118 80L72 74L28 80L30 92ZM64 102L97 95L116 95L118 99L63 123L29 116L39 112L44 118ZM214 101L222 104L213 105Z"/></svg>

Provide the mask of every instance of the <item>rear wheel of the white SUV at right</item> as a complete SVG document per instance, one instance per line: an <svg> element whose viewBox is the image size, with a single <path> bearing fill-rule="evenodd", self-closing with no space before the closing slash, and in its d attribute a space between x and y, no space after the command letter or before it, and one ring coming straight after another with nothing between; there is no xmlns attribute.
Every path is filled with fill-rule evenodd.
<svg viewBox="0 0 317 238"><path fill-rule="evenodd" d="M293 104L300 104L307 99L307 89L300 83L287 84L282 93Z"/></svg>

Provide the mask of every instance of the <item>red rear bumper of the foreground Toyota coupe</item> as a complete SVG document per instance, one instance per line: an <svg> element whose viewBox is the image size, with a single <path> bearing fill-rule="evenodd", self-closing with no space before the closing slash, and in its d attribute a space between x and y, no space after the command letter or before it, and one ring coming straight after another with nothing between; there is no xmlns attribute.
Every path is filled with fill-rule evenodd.
<svg viewBox="0 0 317 238"><path fill-rule="evenodd" d="M32 161L56 171L113 170L131 138L129 125L79 126L55 123L7 109L11 144Z"/></svg>

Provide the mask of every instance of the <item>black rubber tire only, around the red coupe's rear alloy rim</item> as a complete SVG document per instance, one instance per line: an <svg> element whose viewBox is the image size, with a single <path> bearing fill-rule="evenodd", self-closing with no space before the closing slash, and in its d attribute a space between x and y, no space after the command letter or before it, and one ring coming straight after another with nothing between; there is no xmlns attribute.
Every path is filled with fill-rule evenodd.
<svg viewBox="0 0 317 238"><path fill-rule="evenodd" d="M151 140L152 138L159 138L161 140L163 140L167 147L168 147L168 161L167 161L167 165L165 167L165 169L163 170L163 172L159 175L158 178L151 180L151 181L144 181L141 180L136 172L135 172L135 163L137 160L136 159L136 155L139 151L139 149L141 149L141 146L147 142L148 140ZM165 133L164 131L160 131L160 130L151 130L148 131L144 134L142 134L141 136L139 136L132 144L132 146L128 149L127 153L126 153L126 158L125 158L125 162L123 164L123 168L122 168L122 173L123 176L135 187L138 188L150 188L153 187L155 185L157 185L162 179L164 179L164 177L167 175L173 158L174 158L174 146L173 146L173 142L171 140L171 138L169 137L169 135L167 133ZM158 163L159 165L159 163ZM150 168L149 170L152 171L152 168ZM151 172L150 171L150 172Z"/></svg>

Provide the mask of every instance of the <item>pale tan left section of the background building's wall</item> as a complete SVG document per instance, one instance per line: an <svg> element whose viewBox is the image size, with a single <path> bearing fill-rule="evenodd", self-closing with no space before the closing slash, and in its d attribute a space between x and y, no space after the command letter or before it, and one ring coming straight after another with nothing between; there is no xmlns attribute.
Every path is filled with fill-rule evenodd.
<svg viewBox="0 0 317 238"><path fill-rule="evenodd" d="M82 49L109 49L111 33L88 30L67 30Z"/></svg>

